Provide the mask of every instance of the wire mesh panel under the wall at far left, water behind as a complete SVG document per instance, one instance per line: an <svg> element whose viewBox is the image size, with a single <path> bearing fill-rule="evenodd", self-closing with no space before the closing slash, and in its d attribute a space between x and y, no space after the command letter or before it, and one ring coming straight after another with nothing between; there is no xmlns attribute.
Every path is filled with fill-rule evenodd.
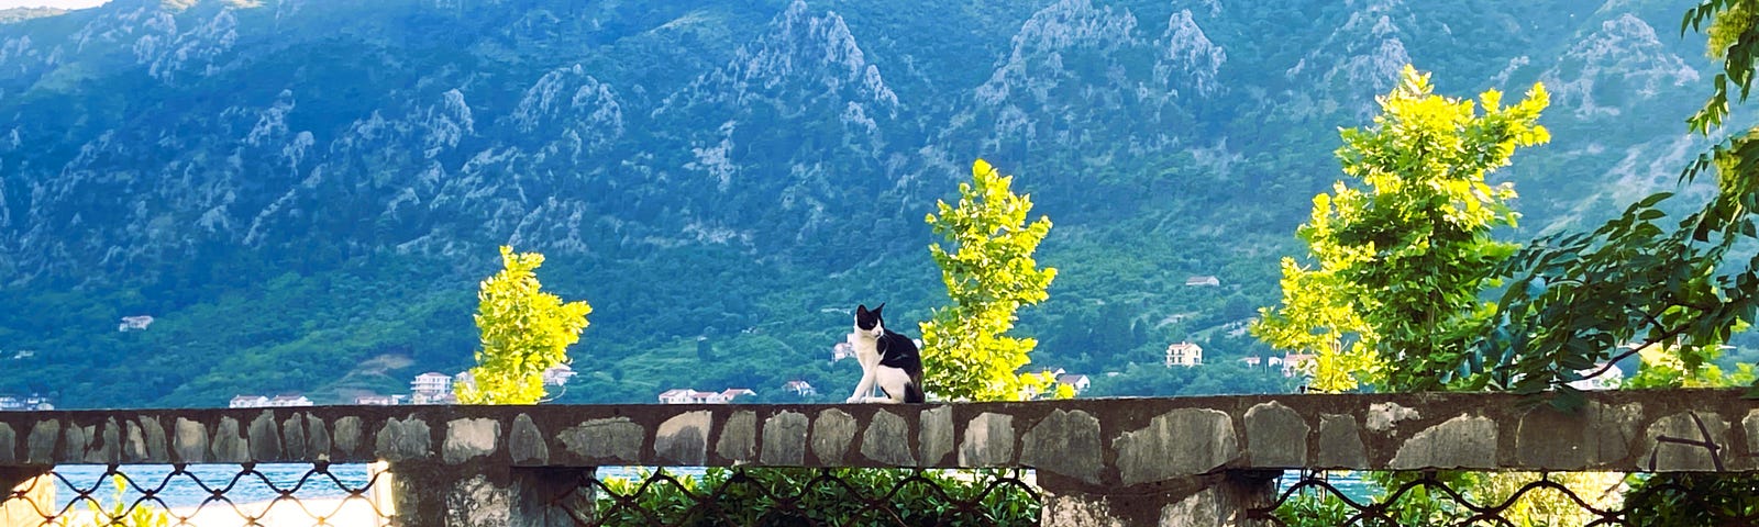
<svg viewBox="0 0 1759 527"><path fill-rule="evenodd" d="M0 523L390 525L389 513L373 495L383 473L361 466L348 474L322 462L97 469L102 471L58 467L28 480L0 497Z"/></svg>

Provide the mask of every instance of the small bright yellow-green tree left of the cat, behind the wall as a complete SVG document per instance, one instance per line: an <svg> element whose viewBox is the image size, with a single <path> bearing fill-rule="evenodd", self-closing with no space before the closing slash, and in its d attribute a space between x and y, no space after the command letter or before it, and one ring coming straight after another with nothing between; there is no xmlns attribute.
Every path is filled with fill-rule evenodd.
<svg viewBox="0 0 1759 527"><path fill-rule="evenodd" d="M482 350L471 383L461 383L464 404L535 404L544 397L544 371L568 362L568 346L580 341L586 300L563 302L542 292L536 269L544 255L514 253L501 246L501 272L484 279L477 292L477 328Z"/></svg>

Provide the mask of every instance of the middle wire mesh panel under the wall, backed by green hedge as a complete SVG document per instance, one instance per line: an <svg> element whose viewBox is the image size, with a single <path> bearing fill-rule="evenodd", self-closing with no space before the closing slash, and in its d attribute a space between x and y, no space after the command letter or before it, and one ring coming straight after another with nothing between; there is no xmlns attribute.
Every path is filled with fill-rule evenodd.
<svg viewBox="0 0 1759 527"><path fill-rule="evenodd" d="M551 502L589 495L577 525L1038 525L1020 469L707 469L586 478Z"/></svg>

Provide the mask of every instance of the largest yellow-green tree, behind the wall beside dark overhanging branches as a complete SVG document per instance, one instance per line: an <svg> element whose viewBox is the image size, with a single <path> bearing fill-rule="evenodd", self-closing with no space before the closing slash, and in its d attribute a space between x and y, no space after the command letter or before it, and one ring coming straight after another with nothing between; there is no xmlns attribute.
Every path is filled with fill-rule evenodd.
<svg viewBox="0 0 1759 527"><path fill-rule="evenodd" d="M1479 300L1514 244L1492 239L1516 214L1507 183L1486 174L1520 146L1550 141L1537 125L1544 86L1502 105L1435 95L1428 74L1405 67L1381 116L1342 132L1344 174L1314 197L1296 235L1312 267L1282 260L1282 306L1261 309L1252 334L1272 346L1317 355L1314 388L1441 388L1490 316ZM1397 364L1397 367L1388 367Z"/></svg>

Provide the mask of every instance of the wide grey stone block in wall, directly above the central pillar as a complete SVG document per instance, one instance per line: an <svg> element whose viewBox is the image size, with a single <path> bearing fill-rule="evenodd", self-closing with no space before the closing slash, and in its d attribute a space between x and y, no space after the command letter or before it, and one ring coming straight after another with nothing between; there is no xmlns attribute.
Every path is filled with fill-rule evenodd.
<svg viewBox="0 0 1759 527"><path fill-rule="evenodd" d="M1124 485L1208 474L1240 457L1233 418L1207 408L1163 413L1112 439Z"/></svg>

